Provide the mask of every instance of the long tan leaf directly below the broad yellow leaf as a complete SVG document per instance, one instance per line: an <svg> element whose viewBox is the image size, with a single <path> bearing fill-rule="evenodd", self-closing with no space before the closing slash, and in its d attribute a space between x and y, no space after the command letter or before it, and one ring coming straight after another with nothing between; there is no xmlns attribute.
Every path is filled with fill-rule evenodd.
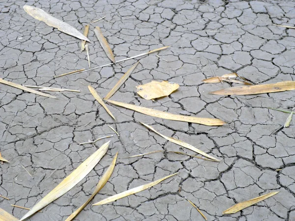
<svg viewBox="0 0 295 221"><path fill-rule="evenodd" d="M225 124L220 119L214 119L214 118L203 118L203 117L194 117L194 116L184 116L184 115L178 115L174 113L168 113L164 111L157 111L149 108L139 107L136 105L126 104L118 101L112 101L112 100L106 100L108 103L127 108L133 111L137 111L149 116L153 117L159 117L163 119L168 120L176 120L176 121L184 121L184 122L191 122L191 123L197 123L197 124L204 124L208 126L219 126Z"/></svg>

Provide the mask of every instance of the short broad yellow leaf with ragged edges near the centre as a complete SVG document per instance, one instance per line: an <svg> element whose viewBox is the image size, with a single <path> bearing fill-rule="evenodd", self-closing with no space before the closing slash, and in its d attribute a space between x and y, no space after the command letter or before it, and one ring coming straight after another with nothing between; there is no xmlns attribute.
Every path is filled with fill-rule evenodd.
<svg viewBox="0 0 295 221"><path fill-rule="evenodd" d="M165 97L170 95L173 91L177 90L179 84L169 83L167 81L146 83L137 86L137 93L146 100L154 98Z"/></svg>

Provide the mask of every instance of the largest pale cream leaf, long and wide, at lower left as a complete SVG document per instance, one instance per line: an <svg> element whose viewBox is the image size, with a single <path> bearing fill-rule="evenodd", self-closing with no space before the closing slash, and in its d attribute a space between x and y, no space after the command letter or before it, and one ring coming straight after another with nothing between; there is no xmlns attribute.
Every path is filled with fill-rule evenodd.
<svg viewBox="0 0 295 221"><path fill-rule="evenodd" d="M103 144L98 150L96 150L89 158L87 158L80 166L78 166L70 175L63 179L59 185L42 198L33 208L24 216L20 221L23 221L53 202L64 193L72 189L77 183L79 183L89 172L97 165L100 159L105 155L109 148L110 141Z"/></svg>

